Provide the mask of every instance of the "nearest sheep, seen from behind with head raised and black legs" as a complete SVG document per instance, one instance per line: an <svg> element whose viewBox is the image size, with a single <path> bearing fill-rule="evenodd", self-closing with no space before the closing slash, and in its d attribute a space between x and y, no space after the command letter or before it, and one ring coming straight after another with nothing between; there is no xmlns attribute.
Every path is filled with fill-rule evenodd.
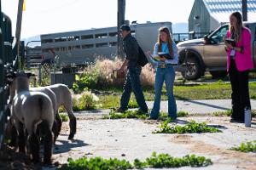
<svg viewBox="0 0 256 170"><path fill-rule="evenodd" d="M44 135L44 164L50 164L53 144L51 130L55 119L52 101L44 93L29 91L31 73L19 72L15 76L16 93L11 105L11 116L18 134L19 151L25 153L25 127L32 161L40 161L40 143L37 135L37 129L40 127Z"/></svg>

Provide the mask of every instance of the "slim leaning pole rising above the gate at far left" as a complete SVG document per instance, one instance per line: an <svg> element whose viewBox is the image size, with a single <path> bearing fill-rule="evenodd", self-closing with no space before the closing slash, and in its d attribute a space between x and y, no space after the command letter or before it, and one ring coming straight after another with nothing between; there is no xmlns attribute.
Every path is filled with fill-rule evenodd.
<svg viewBox="0 0 256 170"><path fill-rule="evenodd" d="M17 13L17 22L16 22L16 46L17 46L17 55L20 55L20 32L21 32L21 21L22 21L22 9L23 9L24 0L19 0L18 13ZM20 61L20 59L19 59Z"/></svg>

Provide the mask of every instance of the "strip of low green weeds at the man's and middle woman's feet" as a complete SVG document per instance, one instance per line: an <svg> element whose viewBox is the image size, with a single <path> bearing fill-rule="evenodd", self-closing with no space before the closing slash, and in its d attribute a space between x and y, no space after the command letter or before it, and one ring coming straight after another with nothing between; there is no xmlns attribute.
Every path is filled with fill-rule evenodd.
<svg viewBox="0 0 256 170"><path fill-rule="evenodd" d="M116 111L111 110L109 115L103 116L103 119L125 119L125 118L137 118L137 119L146 119L149 116L149 112L145 113L142 111L125 111L125 113L119 113ZM183 116L189 116L189 113L186 111L177 111L177 116L178 117L183 117ZM160 120L166 120L168 117L168 114L164 111L160 111Z"/></svg>

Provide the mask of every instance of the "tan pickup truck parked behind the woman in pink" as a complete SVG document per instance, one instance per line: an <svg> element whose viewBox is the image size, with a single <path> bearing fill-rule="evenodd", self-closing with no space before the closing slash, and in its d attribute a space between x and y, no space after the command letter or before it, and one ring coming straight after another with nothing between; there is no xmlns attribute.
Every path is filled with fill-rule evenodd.
<svg viewBox="0 0 256 170"><path fill-rule="evenodd" d="M256 22L244 22L252 33L253 62L256 66ZM182 75L187 80L196 80L210 71L212 77L227 75L227 54L224 49L224 37L229 24L219 26L204 38L177 43L179 63L189 63L189 69L183 69Z"/></svg>

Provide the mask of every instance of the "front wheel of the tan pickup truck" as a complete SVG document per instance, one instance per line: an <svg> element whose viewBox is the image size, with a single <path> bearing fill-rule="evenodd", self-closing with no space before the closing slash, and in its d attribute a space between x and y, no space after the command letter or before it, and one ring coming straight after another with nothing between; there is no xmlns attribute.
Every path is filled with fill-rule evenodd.
<svg viewBox="0 0 256 170"><path fill-rule="evenodd" d="M182 75L187 80L196 80L201 77L201 64L195 57L189 57L187 63L190 65L185 66L185 71Z"/></svg>

